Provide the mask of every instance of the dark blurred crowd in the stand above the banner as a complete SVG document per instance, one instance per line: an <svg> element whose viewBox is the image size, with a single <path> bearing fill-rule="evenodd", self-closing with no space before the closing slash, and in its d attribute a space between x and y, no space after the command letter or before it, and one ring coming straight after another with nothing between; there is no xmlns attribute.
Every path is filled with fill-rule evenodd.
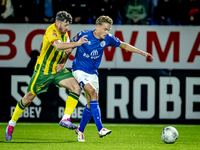
<svg viewBox="0 0 200 150"><path fill-rule="evenodd" d="M0 0L1 23L53 23L60 10L73 24L95 24L107 15L114 24L200 25L200 0Z"/></svg>

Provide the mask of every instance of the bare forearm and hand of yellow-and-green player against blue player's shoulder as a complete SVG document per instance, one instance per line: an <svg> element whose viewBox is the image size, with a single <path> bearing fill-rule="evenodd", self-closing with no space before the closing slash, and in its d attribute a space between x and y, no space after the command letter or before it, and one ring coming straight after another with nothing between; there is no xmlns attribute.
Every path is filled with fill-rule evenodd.
<svg viewBox="0 0 200 150"><path fill-rule="evenodd" d="M85 38L86 36L82 36L77 42L61 42L60 40L52 41L52 45L57 50L63 50L68 48L73 48L82 45L83 43L87 43L88 40Z"/></svg>

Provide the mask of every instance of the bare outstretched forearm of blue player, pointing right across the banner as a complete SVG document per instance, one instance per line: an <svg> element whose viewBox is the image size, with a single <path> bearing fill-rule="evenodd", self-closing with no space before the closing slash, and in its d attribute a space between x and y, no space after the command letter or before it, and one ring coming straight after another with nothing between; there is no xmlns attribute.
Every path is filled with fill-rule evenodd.
<svg viewBox="0 0 200 150"><path fill-rule="evenodd" d="M121 42L120 48L122 49L125 49L127 51L130 51L132 53L138 53L138 54L141 54L142 56L145 56L145 57L150 57L151 60L154 60L153 56L147 52L144 52L144 51L141 51L139 50L138 48L128 44L128 43L125 43L125 42Z"/></svg>

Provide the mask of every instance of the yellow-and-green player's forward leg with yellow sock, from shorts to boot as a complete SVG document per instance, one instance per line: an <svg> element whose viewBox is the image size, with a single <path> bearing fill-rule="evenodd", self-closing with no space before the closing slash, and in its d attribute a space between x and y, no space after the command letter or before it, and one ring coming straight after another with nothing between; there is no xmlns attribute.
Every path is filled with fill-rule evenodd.
<svg viewBox="0 0 200 150"><path fill-rule="evenodd" d="M60 73L59 77L55 79L56 83L59 81L59 86L65 87L70 91L65 103L64 115L59 125L69 129L76 129L77 126L71 123L70 117L78 104L81 88L73 75L69 71L66 72L64 70Z"/></svg>

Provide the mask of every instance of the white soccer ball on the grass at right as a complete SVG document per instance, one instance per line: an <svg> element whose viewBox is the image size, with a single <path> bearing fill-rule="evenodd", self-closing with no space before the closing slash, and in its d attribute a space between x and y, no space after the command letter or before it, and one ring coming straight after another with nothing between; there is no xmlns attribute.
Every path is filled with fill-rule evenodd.
<svg viewBox="0 0 200 150"><path fill-rule="evenodd" d="M161 132L161 139L167 144L173 144L178 139L178 131L172 127L165 127Z"/></svg>

